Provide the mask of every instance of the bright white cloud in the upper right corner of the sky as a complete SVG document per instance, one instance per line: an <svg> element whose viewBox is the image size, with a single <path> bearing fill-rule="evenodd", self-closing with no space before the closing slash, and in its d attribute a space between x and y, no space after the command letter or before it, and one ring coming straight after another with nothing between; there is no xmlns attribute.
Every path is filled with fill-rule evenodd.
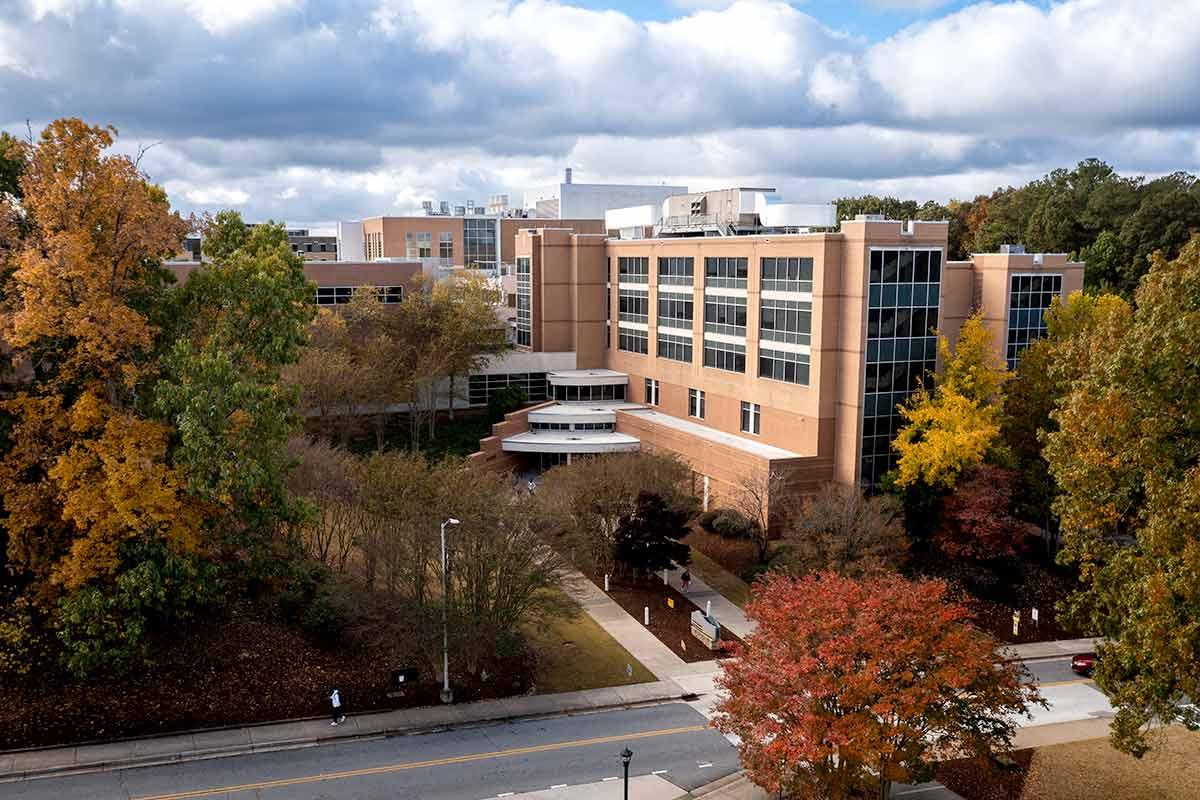
<svg viewBox="0 0 1200 800"><path fill-rule="evenodd" d="M1196 11L1178 0L980 4L896 34L866 66L920 124L1044 131L1194 119Z"/></svg>

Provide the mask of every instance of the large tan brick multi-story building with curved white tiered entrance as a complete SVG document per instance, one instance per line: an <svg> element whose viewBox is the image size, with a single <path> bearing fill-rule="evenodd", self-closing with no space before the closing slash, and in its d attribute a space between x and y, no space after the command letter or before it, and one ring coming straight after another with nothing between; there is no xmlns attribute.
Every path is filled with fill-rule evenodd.
<svg viewBox="0 0 1200 800"><path fill-rule="evenodd" d="M618 239L526 221L517 347L575 365L548 372L547 402L496 426L478 463L671 451L706 505L770 473L796 491L876 483L895 465L896 405L935 367L935 331L953 342L982 308L1013 365L1050 300L1082 287L1084 265L1062 254L1013 246L947 261L946 222L860 216L779 233L758 218L742 225L757 233L691 235L668 223L682 221Z"/></svg>

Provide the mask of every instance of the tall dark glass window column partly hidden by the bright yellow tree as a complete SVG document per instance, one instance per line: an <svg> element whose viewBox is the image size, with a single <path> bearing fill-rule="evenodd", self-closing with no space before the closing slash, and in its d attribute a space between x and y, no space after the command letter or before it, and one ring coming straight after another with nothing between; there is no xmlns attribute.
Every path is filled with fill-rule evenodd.
<svg viewBox="0 0 1200 800"><path fill-rule="evenodd" d="M859 464L869 486L895 468L892 440L904 425L898 409L934 371L941 281L941 249L870 253Z"/></svg>

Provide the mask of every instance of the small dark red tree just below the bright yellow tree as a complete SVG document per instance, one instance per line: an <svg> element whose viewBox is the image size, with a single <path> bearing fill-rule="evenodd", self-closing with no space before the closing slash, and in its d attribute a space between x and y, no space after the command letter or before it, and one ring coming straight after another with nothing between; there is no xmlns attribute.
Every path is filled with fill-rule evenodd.
<svg viewBox="0 0 1200 800"><path fill-rule="evenodd" d="M961 481L942 505L935 541L950 558L984 560L1015 555L1038 534L1013 516L1012 470L984 464Z"/></svg>

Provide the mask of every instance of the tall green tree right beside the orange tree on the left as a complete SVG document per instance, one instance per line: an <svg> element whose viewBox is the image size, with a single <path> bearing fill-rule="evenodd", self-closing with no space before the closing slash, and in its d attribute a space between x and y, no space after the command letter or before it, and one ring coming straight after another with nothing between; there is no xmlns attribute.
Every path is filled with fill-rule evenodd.
<svg viewBox="0 0 1200 800"><path fill-rule="evenodd" d="M268 224L175 293L156 407L179 431L172 458L188 488L220 510L217 531L241 548L298 515L286 488L296 392L281 372L306 342L312 284L283 228Z"/></svg>

